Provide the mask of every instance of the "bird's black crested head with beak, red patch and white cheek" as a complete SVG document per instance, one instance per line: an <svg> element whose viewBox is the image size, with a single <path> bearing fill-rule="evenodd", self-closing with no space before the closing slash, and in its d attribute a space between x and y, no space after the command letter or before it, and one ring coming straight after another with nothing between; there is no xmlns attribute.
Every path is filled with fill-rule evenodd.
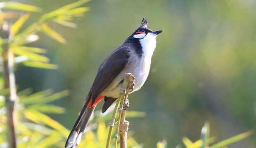
<svg viewBox="0 0 256 148"><path fill-rule="evenodd" d="M143 18L140 26L130 35L125 42L129 42L131 40L140 40L147 36L148 33L152 33L154 35L158 35L159 33L163 32L159 31L152 31L147 27L148 21L147 19Z"/></svg>

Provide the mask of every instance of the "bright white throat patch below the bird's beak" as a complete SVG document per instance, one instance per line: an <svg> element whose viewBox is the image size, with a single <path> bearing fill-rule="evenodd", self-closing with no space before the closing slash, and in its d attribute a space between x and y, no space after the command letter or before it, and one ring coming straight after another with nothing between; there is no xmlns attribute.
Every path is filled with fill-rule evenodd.
<svg viewBox="0 0 256 148"><path fill-rule="evenodd" d="M147 33L147 35L140 40L140 45L142 46L142 56L151 60L156 48L156 34Z"/></svg>

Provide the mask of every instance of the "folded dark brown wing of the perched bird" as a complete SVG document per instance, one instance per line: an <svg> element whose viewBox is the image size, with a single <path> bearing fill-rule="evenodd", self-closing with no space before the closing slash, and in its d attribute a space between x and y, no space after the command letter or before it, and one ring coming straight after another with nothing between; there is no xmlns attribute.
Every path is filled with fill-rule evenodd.
<svg viewBox="0 0 256 148"><path fill-rule="evenodd" d="M114 50L107 59L100 65L96 78L92 84L88 99L94 103L97 96L116 78L127 65L130 58L130 47L121 46Z"/></svg>

